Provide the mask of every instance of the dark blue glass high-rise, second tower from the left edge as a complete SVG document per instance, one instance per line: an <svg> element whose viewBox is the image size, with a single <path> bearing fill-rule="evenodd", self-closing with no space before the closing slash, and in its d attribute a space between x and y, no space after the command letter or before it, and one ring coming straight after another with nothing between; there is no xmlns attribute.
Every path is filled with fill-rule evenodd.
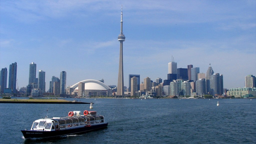
<svg viewBox="0 0 256 144"><path fill-rule="evenodd" d="M17 80L17 63L12 63L9 67L9 83L8 88L11 88L13 93L16 93L16 80Z"/></svg>

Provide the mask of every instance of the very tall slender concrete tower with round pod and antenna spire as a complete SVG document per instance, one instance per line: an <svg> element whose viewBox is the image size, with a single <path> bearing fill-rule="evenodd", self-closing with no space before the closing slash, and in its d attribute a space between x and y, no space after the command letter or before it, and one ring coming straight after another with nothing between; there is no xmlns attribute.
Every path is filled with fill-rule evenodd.
<svg viewBox="0 0 256 144"><path fill-rule="evenodd" d="M123 34L123 6L121 7L121 32L118 36L120 42L120 55L119 55L119 70L118 70L118 83L117 83L117 95L124 95L124 71L123 71L123 42L125 36Z"/></svg>

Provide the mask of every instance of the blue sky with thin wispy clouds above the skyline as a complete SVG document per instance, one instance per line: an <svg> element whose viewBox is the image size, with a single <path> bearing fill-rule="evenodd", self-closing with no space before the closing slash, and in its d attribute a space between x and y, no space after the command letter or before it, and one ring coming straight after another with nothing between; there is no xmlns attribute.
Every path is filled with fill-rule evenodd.
<svg viewBox="0 0 256 144"><path fill-rule="evenodd" d="M0 1L0 68L17 62L18 86L29 64L52 76L67 72L67 86L96 79L117 85L123 5L124 85L167 79L178 68L209 63L224 88L244 87L256 75L256 1ZM7 82L8 83L8 82Z"/></svg>

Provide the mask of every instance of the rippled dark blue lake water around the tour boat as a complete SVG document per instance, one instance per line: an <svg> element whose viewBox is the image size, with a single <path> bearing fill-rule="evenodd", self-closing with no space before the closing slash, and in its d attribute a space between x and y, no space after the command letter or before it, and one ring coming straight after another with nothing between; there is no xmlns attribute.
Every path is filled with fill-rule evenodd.
<svg viewBox="0 0 256 144"><path fill-rule="evenodd" d="M73 98L65 98L73 100ZM24 139L22 129L88 104L0 104L0 143L256 143L256 99L79 99L94 102L107 128L54 139ZM217 106L219 101L219 106Z"/></svg>

